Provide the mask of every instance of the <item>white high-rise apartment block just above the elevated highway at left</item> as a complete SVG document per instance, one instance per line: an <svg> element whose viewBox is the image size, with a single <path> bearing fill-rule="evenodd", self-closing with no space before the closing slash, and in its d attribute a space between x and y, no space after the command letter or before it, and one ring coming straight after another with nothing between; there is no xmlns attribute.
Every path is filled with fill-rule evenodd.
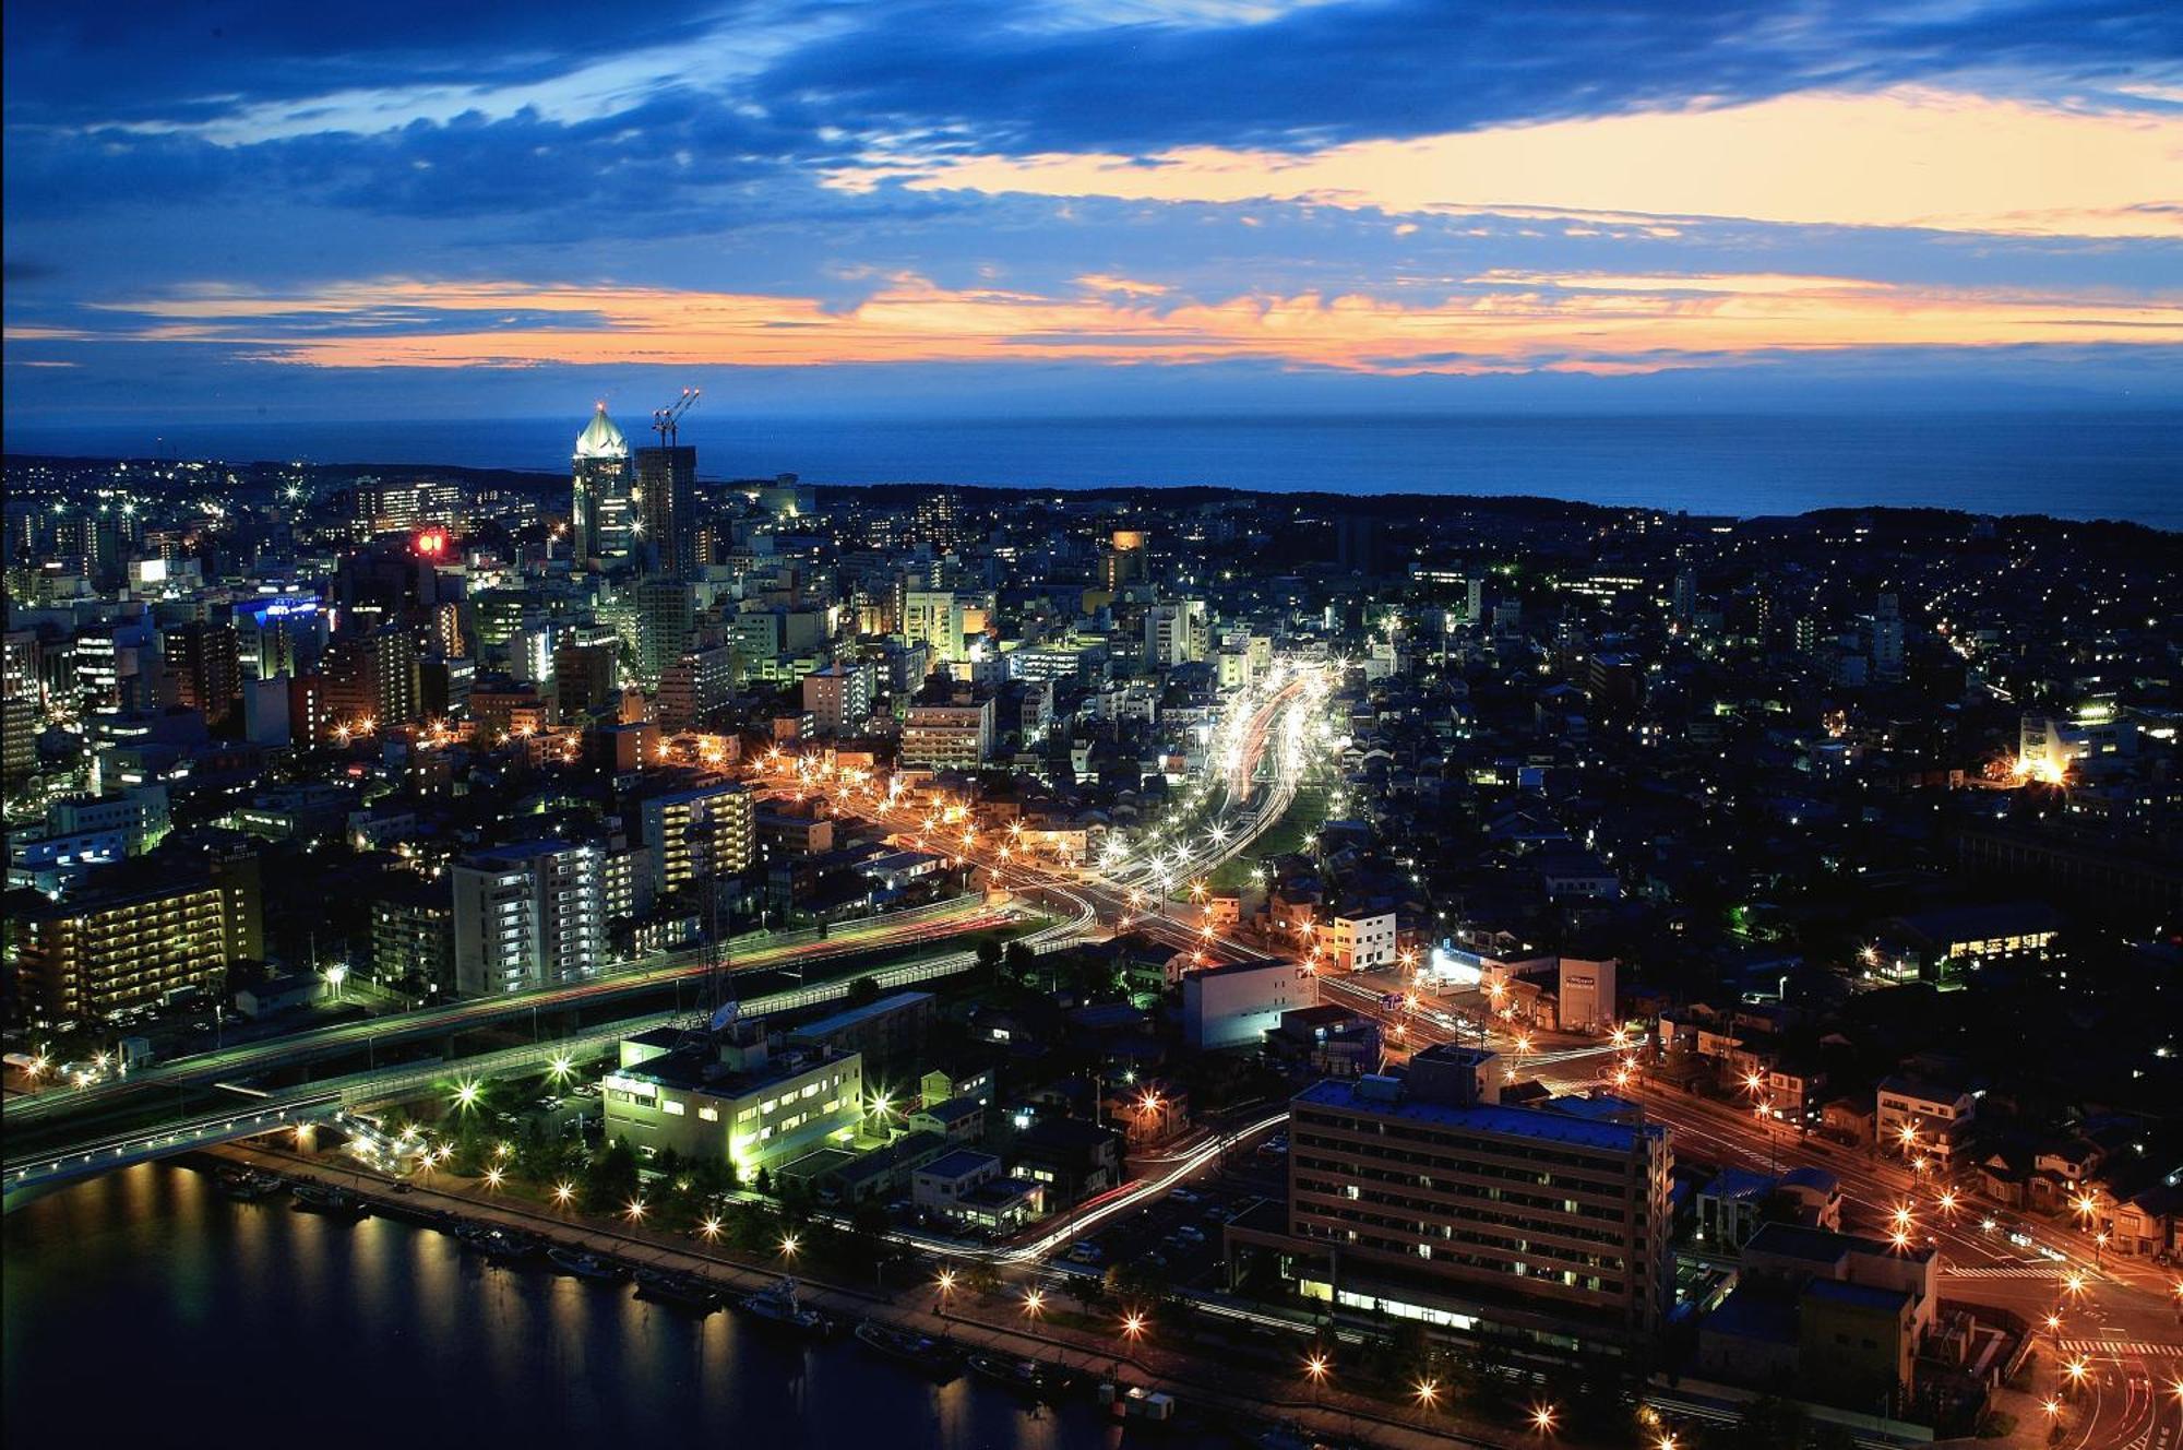
<svg viewBox="0 0 2183 1450"><path fill-rule="evenodd" d="M600 847L524 841L454 863L454 989L572 983L607 965Z"/></svg>

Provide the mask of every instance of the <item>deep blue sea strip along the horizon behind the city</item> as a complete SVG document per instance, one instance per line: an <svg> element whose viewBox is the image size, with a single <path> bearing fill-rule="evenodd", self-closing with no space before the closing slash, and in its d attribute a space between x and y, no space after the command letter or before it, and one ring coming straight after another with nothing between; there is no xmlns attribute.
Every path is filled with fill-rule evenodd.
<svg viewBox="0 0 2183 1450"><path fill-rule="evenodd" d="M7 426L9 452L568 467L561 419ZM648 441L646 419L620 419ZM1646 417L692 415L709 478L1004 487L1222 485L1336 494L1535 494L1692 513L1947 507L2183 528L2183 413Z"/></svg>

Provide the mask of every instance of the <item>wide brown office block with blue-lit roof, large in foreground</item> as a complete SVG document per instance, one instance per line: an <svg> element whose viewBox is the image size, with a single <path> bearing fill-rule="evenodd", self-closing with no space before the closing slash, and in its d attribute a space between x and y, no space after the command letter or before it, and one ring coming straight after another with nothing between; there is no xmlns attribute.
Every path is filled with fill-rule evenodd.
<svg viewBox="0 0 2183 1450"><path fill-rule="evenodd" d="M1552 1345L1637 1347L1672 1304L1663 1125L1508 1107L1493 1053L1441 1044L1410 1077L1290 1103L1288 1229L1305 1297Z"/></svg>

